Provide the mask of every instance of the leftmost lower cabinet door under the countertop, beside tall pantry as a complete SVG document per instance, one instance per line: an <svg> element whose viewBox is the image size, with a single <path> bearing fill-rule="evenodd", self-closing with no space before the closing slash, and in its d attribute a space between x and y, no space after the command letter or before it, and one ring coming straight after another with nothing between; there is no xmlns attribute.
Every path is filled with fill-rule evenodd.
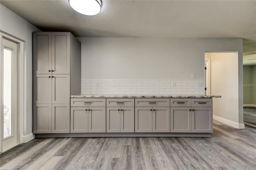
<svg viewBox="0 0 256 170"><path fill-rule="evenodd" d="M88 107L70 107L70 133L88 133Z"/></svg>

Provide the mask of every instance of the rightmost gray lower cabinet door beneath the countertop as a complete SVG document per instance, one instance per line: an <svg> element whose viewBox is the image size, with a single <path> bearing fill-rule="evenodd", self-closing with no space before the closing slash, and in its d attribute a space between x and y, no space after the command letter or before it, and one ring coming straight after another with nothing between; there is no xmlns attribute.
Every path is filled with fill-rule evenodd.
<svg viewBox="0 0 256 170"><path fill-rule="evenodd" d="M192 107L192 133L212 133L212 107Z"/></svg>

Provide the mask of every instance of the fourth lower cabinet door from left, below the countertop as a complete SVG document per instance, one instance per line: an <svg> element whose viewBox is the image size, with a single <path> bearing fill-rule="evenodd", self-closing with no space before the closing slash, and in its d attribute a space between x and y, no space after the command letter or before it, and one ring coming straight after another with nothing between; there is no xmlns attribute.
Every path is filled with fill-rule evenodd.
<svg viewBox="0 0 256 170"><path fill-rule="evenodd" d="M120 107L120 132L134 133L134 107Z"/></svg>

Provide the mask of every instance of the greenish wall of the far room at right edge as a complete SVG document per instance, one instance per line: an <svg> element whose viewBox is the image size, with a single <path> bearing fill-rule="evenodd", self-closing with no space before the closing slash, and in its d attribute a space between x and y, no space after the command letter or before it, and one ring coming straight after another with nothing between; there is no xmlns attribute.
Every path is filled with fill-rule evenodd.
<svg viewBox="0 0 256 170"><path fill-rule="evenodd" d="M244 104L252 104L252 66L243 66ZM254 95L255 96L255 95Z"/></svg>

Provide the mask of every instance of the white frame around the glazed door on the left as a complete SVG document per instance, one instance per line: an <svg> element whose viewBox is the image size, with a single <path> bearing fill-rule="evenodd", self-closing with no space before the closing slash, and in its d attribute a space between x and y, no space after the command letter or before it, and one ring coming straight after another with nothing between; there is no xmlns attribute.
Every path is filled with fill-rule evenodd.
<svg viewBox="0 0 256 170"><path fill-rule="evenodd" d="M21 39L18 39L16 37L13 37L12 35L9 35L7 33L4 33L2 31L0 31L0 49L1 49L1 56L4 55L3 50L2 50L2 39L10 39L11 41L14 41L15 43L17 43L17 65L18 65L18 73L17 73L17 143L22 143L22 137L23 137L23 123L24 122L24 113L26 113L26 75L24 73L25 72L25 68L26 68L26 64L25 64L25 60L24 60L24 41ZM1 70L1 74L0 77L2 77L2 73L3 73L3 65L2 65L2 57L0 57L0 70ZM0 78L0 89L2 89L3 86L3 82L2 82L2 78ZM0 94L2 94L3 92L0 91ZM1 95L2 96L2 95ZM0 98L0 110L2 113L3 110L3 106L2 106L2 98ZM0 122L2 122L4 119L3 114L1 114L0 116ZM0 131L2 132L4 129L4 125L1 123L0 125ZM0 152L2 152L2 135L0 135Z"/></svg>

